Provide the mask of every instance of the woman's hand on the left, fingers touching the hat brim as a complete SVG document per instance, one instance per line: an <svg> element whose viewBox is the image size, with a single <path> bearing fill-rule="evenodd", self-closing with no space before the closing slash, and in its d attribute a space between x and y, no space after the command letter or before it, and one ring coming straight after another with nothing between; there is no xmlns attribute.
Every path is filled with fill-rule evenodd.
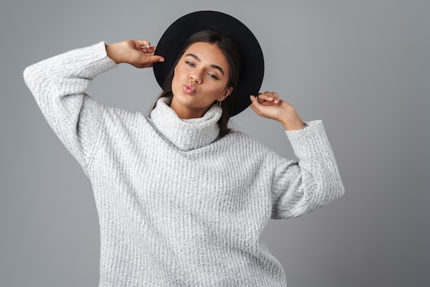
<svg viewBox="0 0 430 287"><path fill-rule="evenodd" d="M148 41L126 40L106 45L106 52L117 64L126 62L136 68L152 67L152 63L163 62L164 58L155 56L155 47Z"/></svg>

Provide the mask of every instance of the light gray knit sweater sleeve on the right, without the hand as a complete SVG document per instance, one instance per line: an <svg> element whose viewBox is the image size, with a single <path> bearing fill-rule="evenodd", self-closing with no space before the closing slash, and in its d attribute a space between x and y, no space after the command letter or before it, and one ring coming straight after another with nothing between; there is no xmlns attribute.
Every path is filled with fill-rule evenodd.
<svg viewBox="0 0 430 287"><path fill-rule="evenodd" d="M273 182L273 219L294 218L343 195L335 155L321 121L286 131L298 161L278 159Z"/></svg>

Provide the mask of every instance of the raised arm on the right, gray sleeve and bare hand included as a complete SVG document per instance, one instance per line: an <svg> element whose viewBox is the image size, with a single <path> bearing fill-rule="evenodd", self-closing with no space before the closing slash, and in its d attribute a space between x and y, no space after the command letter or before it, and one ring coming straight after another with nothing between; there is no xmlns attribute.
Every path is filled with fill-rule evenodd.
<svg viewBox="0 0 430 287"><path fill-rule="evenodd" d="M272 218L308 214L343 195L335 155L321 121L304 124L295 108L277 93L251 96L258 115L275 119L285 130L298 161L278 158L273 177Z"/></svg>

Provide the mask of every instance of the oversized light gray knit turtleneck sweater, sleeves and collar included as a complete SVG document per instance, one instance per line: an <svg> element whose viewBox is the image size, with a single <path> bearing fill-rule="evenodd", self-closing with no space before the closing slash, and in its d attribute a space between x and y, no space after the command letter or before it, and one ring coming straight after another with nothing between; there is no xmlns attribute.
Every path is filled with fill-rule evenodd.
<svg viewBox="0 0 430 287"><path fill-rule="evenodd" d="M91 181L100 286L286 286L260 233L343 194L323 124L286 132L298 160L284 159L244 133L218 139L218 106L180 119L163 100L150 117L95 102L85 90L115 66L98 43L24 72Z"/></svg>

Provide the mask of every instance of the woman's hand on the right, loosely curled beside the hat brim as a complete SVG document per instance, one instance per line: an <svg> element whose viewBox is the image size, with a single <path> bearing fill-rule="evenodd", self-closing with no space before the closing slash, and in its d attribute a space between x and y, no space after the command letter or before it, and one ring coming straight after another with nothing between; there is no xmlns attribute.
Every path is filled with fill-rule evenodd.
<svg viewBox="0 0 430 287"><path fill-rule="evenodd" d="M280 100L275 92L259 93L257 97L251 95L251 108L257 115L280 122L286 130L298 130L304 126L295 108Z"/></svg>

